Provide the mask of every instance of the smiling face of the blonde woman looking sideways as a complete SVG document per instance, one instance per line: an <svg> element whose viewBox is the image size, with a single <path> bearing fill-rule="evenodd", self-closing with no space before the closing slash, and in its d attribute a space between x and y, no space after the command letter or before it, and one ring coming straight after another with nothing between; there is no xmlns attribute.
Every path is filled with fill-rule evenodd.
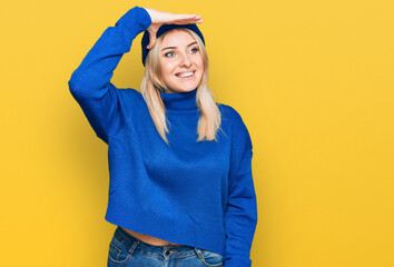
<svg viewBox="0 0 394 267"><path fill-rule="evenodd" d="M168 92L188 92L201 82L204 63L197 41L184 30L170 30L160 47L161 79Z"/></svg>

